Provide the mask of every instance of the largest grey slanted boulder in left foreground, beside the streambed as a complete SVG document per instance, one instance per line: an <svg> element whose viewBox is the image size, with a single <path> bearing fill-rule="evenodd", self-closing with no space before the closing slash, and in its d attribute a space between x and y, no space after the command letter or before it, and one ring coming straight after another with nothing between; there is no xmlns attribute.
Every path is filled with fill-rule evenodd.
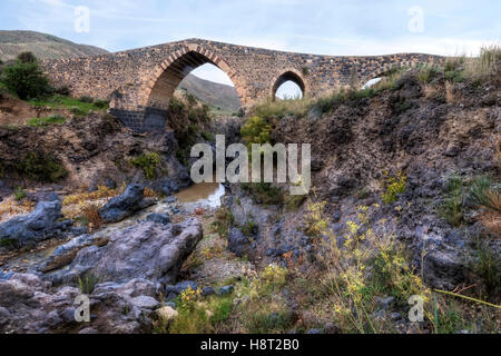
<svg viewBox="0 0 501 356"><path fill-rule="evenodd" d="M140 222L115 231L104 247L79 250L69 268L48 278L69 283L91 275L117 283L145 278L171 284L202 237L202 224L194 218L178 225Z"/></svg>

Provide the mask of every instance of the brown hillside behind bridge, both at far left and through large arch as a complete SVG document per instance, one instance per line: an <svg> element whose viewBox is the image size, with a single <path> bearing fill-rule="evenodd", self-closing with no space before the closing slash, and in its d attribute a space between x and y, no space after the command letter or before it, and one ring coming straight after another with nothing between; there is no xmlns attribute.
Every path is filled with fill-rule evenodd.
<svg viewBox="0 0 501 356"><path fill-rule="evenodd" d="M21 53L30 51L38 59L61 59L108 53L107 50L77 44L59 37L33 31L0 30L0 60L16 59ZM214 111L235 112L240 108L240 101L234 87L216 83L188 75L179 85L203 102L214 108Z"/></svg>

